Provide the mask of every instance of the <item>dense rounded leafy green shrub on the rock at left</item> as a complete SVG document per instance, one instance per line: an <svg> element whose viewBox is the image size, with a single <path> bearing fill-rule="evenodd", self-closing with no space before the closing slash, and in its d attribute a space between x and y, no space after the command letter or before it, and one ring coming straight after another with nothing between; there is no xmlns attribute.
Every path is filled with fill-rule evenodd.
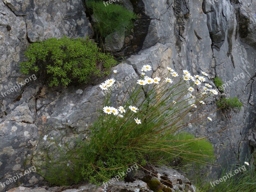
<svg viewBox="0 0 256 192"><path fill-rule="evenodd" d="M20 64L21 72L36 73L48 86L68 86L72 82L87 83L92 77L110 74L116 65L114 58L99 52L88 38L50 38L31 44Z"/></svg>

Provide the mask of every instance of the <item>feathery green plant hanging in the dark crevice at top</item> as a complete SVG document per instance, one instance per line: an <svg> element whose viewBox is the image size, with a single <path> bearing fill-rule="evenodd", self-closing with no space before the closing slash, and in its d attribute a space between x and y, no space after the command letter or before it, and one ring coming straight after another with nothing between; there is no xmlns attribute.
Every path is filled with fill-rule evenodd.
<svg viewBox="0 0 256 192"><path fill-rule="evenodd" d="M102 37L113 32L128 31L132 28L132 20L137 16L121 5L108 4L105 6L102 1L86 1L86 7L92 10L94 15L94 30Z"/></svg>

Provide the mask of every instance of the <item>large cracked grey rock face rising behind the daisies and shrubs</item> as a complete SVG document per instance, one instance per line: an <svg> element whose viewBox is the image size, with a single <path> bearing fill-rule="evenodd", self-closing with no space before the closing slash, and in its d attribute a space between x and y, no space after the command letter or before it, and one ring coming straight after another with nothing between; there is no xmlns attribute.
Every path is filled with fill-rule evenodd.
<svg viewBox="0 0 256 192"><path fill-rule="evenodd" d="M204 70L213 86L212 78L219 76L226 84L223 95L237 96L243 103L242 110L228 114L218 111L212 114L215 121L208 127L199 125L188 131L196 136L210 135L234 124L209 140L216 149L216 164L227 164L227 158L231 164L243 162L255 148L256 2L122 2L136 12L139 19L132 34L124 39L123 50L133 54L115 67L118 85L134 84L144 64L152 66L152 76L162 76L167 66L176 71L186 69L192 74ZM80 0L0 2L0 182L23 174L32 165L41 166L47 159L45 151L53 154L53 158L57 156L53 140L61 146L69 143L72 148L77 137L88 137L104 96L99 85L67 90L42 88L31 76L29 79L21 75L18 66L31 42L91 34L91 24ZM14 90L17 84L20 86ZM116 93L117 90L113 90L112 95ZM120 94L119 99L123 95ZM208 107L214 105L212 101ZM218 168L209 167L207 174L213 177L218 172ZM30 172L16 183L0 185L0 191L18 182L24 187L45 184L40 175Z"/></svg>

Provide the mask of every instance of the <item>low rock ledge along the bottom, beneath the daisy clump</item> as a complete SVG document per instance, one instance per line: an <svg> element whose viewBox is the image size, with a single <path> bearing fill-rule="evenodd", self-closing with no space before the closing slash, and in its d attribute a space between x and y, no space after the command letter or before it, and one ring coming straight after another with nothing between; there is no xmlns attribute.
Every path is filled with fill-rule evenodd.
<svg viewBox="0 0 256 192"><path fill-rule="evenodd" d="M135 180L132 182L125 181L116 181L112 184L106 183L101 186L96 186L93 184L88 184L85 186L81 186L77 189L66 189L65 188L47 188L47 187L36 187L36 188L25 188L25 187L17 187L8 190L7 192L152 192L155 188L149 187L150 183L159 183L159 190L163 188L168 188L170 192L196 192L196 187L191 184L191 182L181 175L176 170L159 167L153 168L152 172L155 172L155 175L151 175L150 173L145 173L143 171L139 171L135 174ZM156 175L157 173L157 175ZM140 180L141 179L141 180ZM145 181L145 182L144 182ZM157 185L156 185L157 186Z"/></svg>

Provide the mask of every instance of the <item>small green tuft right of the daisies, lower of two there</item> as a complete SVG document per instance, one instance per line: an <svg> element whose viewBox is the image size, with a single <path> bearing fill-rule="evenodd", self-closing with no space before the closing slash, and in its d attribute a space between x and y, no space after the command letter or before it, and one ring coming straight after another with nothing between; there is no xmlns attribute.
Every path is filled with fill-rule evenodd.
<svg viewBox="0 0 256 192"><path fill-rule="evenodd" d="M222 109L234 110L238 109L239 111L242 109L243 103L241 103L237 97L231 98L221 98L217 101L217 105Z"/></svg>

